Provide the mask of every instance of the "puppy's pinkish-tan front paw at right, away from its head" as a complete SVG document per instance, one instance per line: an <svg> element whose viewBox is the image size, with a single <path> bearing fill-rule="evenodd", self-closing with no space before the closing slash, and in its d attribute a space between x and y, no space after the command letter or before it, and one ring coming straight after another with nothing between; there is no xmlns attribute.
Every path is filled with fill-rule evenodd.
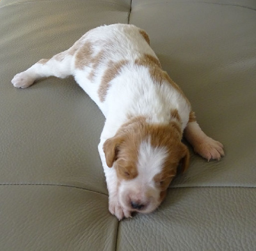
<svg viewBox="0 0 256 251"><path fill-rule="evenodd" d="M211 158L213 160L220 160L221 156L225 155L223 145L210 137L205 137L202 141L196 144L194 150L208 161L211 160Z"/></svg>

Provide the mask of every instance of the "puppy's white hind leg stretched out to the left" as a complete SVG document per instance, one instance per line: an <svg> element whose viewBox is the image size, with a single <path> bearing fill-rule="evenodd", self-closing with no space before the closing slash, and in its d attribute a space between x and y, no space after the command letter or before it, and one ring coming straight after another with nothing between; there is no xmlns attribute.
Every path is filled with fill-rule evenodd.
<svg viewBox="0 0 256 251"><path fill-rule="evenodd" d="M12 84L18 88L31 86L36 79L42 77L60 77L61 79L72 75L72 55L68 51L61 52L51 59L41 59L24 72L20 72L12 79Z"/></svg>

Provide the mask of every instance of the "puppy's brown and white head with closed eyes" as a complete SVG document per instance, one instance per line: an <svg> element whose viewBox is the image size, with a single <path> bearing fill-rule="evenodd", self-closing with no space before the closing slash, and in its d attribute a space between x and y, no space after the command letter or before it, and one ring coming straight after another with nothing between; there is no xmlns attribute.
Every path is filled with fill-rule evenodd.
<svg viewBox="0 0 256 251"><path fill-rule="evenodd" d="M124 125L103 146L108 167L118 177L118 200L129 211L150 213L163 201L177 167L189 164L177 123L150 125L138 119Z"/></svg>

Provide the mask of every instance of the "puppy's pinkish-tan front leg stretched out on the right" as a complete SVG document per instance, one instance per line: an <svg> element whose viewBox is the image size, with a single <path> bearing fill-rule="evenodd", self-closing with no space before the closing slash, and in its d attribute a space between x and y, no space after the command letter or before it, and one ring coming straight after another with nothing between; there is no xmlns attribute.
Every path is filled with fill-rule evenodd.
<svg viewBox="0 0 256 251"><path fill-rule="evenodd" d="M196 121L189 122L184 131L188 142L193 146L194 151L206 158L220 160L224 156L223 145L208 137L200 128Z"/></svg>

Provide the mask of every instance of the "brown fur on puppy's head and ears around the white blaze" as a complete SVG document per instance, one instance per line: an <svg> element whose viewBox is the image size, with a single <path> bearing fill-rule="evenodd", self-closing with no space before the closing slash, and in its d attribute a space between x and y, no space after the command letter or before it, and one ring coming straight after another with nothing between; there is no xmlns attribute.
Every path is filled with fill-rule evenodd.
<svg viewBox="0 0 256 251"><path fill-rule="evenodd" d="M138 175L136 163L141 142L150 141L154 148L165 148L167 151L163 171L154 178L161 190L166 190L177 172L180 160L184 160L183 170L188 168L189 151L181 142L181 132L177 130L177 123L150 125L145 120L143 116L131 118L114 137L104 143L106 162L109 167L115 162L118 177L134 178Z"/></svg>

